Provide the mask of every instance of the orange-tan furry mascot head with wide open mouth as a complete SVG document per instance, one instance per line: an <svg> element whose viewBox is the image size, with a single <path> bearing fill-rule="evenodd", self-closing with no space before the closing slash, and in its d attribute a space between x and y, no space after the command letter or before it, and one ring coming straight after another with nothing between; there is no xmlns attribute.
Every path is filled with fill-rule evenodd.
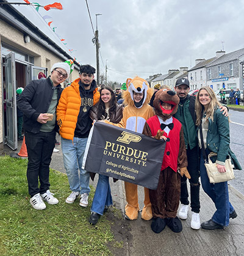
<svg viewBox="0 0 244 256"><path fill-rule="evenodd" d="M152 94L153 89L149 87L148 82L136 76L134 79L128 78L126 80L127 90L123 93L124 104L128 106L135 106L136 108L142 108L143 104L148 104ZM133 92L143 93L142 100L140 102L134 101Z"/></svg>

